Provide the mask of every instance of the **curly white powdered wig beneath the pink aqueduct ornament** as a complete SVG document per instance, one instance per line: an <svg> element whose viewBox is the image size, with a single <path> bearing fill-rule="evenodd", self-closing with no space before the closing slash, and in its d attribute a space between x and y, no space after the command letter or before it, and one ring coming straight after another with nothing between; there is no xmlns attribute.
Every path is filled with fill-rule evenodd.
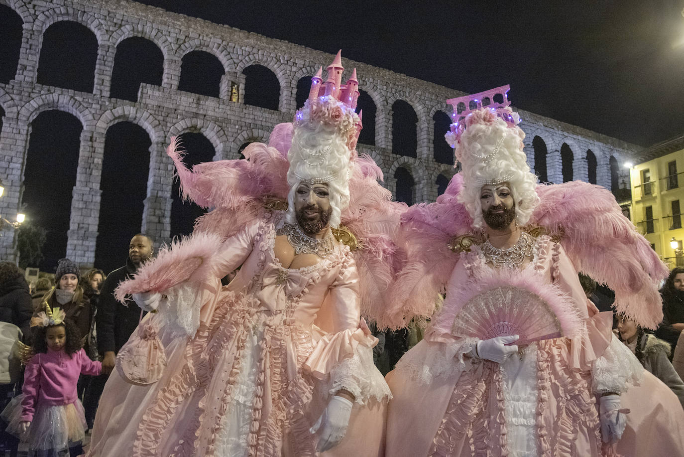
<svg viewBox="0 0 684 457"><path fill-rule="evenodd" d="M525 225L539 203L537 176L531 173L523 151L525 132L509 126L488 108L471 112L465 122L467 127L455 151L463 170L463 190L458 201L468 210L473 225L482 227L482 186L508 183L515 201L516 221Z"/></svg>

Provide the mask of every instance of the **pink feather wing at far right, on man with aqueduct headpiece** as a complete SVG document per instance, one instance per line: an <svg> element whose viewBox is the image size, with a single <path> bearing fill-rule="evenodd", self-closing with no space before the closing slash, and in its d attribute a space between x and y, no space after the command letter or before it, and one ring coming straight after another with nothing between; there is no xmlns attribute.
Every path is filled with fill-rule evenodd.
<svg viewBox="0 0 684 457"><path fill-rule="evenodd" d="M605 188L573 181L537 186L531 223L561 237L575 268L615 291L618 312L646 328L663 319L659 284L668 268Z"/></svg>

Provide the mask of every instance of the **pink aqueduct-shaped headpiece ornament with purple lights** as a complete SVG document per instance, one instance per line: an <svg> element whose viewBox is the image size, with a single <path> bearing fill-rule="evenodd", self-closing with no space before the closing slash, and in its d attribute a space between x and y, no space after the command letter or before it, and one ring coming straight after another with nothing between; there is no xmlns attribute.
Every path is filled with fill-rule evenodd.
<svg viewBox="0 0 684 457"><path fill-rule="evenodd" d="M509 127L514 127L520 122L518 113L513 112L509 108L511 102L508 100L508 91L510 85L485 90L477 94L464 95L463 97L456 97L448 99L447 103L453 107L451 114L451 125L449 125L449 132L445 134L445 139L449 146L456 148L460 143L460 137L465 131L466 127L470 125L469 115L476 110L482 108L489 108L497 114Z"/></svg>

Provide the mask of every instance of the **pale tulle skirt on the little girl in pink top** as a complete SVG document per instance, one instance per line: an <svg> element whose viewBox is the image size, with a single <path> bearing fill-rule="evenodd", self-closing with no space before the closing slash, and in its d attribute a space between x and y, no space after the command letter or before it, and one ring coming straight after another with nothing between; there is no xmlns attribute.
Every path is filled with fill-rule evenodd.
<svg viewBox="0 0 684 457"><path fill-rule="evenodd" d="M5 430L21 439L20 448L27 445L31 451L54 449L60 452L86 437L88 425L79 400L63 406L36 405L34 420L25 433L21 432L23 397L14 397L0 415L9 424Z"/></svg>

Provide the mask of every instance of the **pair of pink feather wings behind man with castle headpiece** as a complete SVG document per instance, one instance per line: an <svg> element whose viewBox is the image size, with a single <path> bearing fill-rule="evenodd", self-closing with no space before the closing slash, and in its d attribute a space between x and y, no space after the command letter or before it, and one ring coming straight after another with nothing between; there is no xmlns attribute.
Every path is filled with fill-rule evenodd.
<svg viewBox="0 0 684 457"><path fill-rule="evenodd" d="M213 208L197 219L193 236L215 234L224 240L267 211L269 199L287 201L287 151L293 134L291 123L274 127L269 145L251 143L243 154L247 160L220 160L193 166L183 164L176 137L167 149L176 165L182 195L204 208ZM405 203L392 201L392 193L380 186L382 170L369 156L352 151L350 204L341 223L358 240L354 251L359 271L361 312L382 325L387 291L401 264L395 238Z"/></svg>

